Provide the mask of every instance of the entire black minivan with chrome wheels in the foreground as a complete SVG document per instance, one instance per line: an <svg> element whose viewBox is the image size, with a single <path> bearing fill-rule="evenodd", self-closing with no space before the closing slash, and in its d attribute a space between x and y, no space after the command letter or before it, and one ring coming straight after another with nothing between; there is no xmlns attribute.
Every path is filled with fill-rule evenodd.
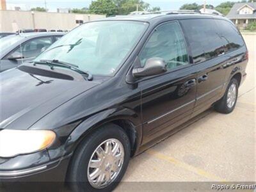
<svg viewBox="0 0 256 192"><path fill-rule="evenodd" d="M1 73L0 179L111 191L129 159L214 106L234 110L248 51L216 15L87 22Z"/></svg>

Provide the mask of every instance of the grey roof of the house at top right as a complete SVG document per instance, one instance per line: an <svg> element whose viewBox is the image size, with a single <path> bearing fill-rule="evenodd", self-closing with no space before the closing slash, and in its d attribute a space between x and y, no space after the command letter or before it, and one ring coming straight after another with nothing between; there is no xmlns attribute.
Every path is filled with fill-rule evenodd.
<svg viewBox="0 0 256 192"><path fill-rule="evenodd" d="M244 6L253 8L253 14L239 15L239 10ZM256 19L256 3L235 3L227 15L228 19Z"/></svg>

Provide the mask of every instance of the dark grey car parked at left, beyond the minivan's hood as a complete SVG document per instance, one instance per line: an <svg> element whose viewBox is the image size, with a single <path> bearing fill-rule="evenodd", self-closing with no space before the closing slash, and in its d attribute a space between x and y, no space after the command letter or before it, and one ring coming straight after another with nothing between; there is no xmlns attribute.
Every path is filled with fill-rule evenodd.
<svg viewBox="0 0 256 192"><path fill-rule="evenodd" d="M33 60L65 33L20 33L0 39L0 72Z"/></svg>

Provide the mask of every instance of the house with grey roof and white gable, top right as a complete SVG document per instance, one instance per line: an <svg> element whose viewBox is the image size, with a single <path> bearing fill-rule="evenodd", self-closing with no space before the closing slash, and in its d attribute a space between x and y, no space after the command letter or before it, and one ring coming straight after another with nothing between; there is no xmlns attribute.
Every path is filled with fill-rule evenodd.
<svg viewBox="0 0 256 192"><path fill-rule="evenodd" d="M244 29L250 22L256 22L256 3L236 3L227 15L237 28Z"/></svg>

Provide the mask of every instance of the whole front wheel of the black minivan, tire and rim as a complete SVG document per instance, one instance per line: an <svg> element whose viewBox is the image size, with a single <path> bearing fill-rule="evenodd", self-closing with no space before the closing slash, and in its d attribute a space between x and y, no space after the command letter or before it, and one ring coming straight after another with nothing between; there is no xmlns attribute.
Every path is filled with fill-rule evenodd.
<svg viewBox="0 0 256 192"><path fill-rule="evenodd" d="M107 145L110 146L110 149ZM114 146L118 146L116 147L118 150L114 150ZM113 151L116 151L116 155ZM86 137L77 147L67 173L68 186L72 191L77 192L113 191L127 170L130 154L131 144L127 134L121 127L115 124L100 127ZM116 160L116 158L120 158L120 160ZM97 164L97 168L92 168L96 165L93 164L96 161L100 162L101 165ZM96 179L94 176L88 177L88 175L93 175L92 173L95 173L94 175L99 175L100 173L101 175ZM97 179L102 182L95 182ZM107 183L105 180L109 180L109 182Z"/></svg>

